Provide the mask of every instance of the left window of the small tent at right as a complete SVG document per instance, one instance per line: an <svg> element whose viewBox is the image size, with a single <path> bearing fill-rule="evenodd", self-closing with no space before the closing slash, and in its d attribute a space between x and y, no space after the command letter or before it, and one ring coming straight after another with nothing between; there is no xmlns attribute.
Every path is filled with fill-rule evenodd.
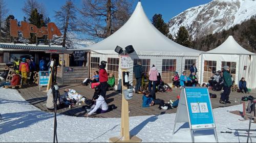
<svg viewBox="0 0 256 143"><path fill-rule="evenodd" d="M217 61L204 61L204 82L208 82L212 71L216 71Z"/></svg>

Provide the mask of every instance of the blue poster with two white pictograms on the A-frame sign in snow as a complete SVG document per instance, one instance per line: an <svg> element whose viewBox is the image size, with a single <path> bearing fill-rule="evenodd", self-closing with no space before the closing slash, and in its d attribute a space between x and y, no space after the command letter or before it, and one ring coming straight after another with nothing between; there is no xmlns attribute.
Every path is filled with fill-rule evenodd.
<svg viewBox="0 0 256 143"><path fill-rule="evenodd" d="M191 129L215 128L207 88L185 88Z"/></svg>

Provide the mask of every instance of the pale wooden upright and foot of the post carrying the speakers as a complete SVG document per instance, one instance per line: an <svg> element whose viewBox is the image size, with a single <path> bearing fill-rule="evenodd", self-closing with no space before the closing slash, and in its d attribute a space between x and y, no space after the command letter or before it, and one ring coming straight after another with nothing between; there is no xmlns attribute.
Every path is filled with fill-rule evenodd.
<svg viewBox="0 0 256 143"><path fill-rule="evenodd" d="M119 57L119 62L121 62L121 58ZM120 65L120 64L119 64ZM111 137L109 139L110 142L141 142L142 140L137 136L130 136L129 129L129 104L128 101L124 97L123 90L127 90L127 87L123 85L123 72L127 72L126 69L121 69L122 76L122 108L121 108L121 133L120 137Z"/></svg>

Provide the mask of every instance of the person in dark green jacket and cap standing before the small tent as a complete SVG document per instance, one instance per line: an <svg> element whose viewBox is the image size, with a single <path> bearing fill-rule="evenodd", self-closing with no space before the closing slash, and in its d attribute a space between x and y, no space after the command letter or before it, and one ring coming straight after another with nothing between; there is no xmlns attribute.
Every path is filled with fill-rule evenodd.
<svg viewBox="0 0 256 143"><path fill-rule="evenodd" d="M224 85L223 90L224 92L221 94L220 103L226 104L229 103L229 94L231 92L231 86L232 86L232 79L231 75L229 73L230 68L228 66L223 67L223 78L224 78Z"/></svg>

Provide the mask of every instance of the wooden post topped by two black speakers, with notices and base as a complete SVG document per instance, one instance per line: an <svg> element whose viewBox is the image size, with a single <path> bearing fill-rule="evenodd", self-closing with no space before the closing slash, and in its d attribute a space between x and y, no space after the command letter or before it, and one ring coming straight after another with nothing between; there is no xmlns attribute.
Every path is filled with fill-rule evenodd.
<svg viewBox="0 0 256 143"><path fill-rule="evenodd" d="M127 68L129 68L129 62L126 60L129 60L129 56L126 54L130 54L134 52L134 48L132 45L126 46L125 50L123 50L121 47L117 46L115 51L119 54L119 65L121 62L121 85L122 85L122 108L121 108L121 131L120 131L120 137L111 137L109 138L110 142L141 142L142 140L138 138L135 135L130 135L129 130L129 103L128 100L132 97L129 97L128 87L126 86L126 83L124 83L124 75L123 72L127 72ZM125 54L125 56L122 56L120 54ZM122 61L123 60L123 61ZM124 65L124 63L127 63L128 65ZM128 85L129 86L129 85ZM128 100L127 100L128 99Z"/></svg>

